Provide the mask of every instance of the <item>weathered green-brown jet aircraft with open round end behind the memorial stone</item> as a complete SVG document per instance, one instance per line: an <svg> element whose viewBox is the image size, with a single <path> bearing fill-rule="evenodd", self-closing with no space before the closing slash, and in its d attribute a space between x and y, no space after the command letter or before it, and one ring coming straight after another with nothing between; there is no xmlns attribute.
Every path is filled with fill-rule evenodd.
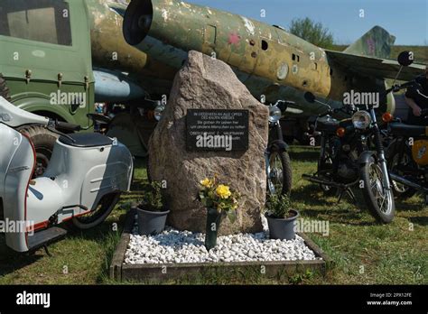
<svg viewBox="0 0 428 314"><path fill-rule="evenodd" d="M295 116L325 110L306 102L302 97L306 91L341 106L351 90L380 92L386 89L386 78L410 80L423 72L423 65L414 64L396 76L398 63L386 59L395 37L379 26L345 51L329 51L279 26L182 1L132 0L124 36L150 58L174 69L181 68L191 50L223 60L253 96L266 103L294 101L288 113ZM394 97L387 104L383 109L394 111Z"/></svg>

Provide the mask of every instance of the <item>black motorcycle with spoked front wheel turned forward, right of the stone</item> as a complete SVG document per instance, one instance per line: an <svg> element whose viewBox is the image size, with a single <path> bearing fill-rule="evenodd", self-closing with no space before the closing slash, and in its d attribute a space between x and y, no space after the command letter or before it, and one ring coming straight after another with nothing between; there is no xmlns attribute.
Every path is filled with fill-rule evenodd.
<svg viewBox="0 0 428 314"><path fill-rule="evenodd" d="M386 90L383 96L393 90L397 87ZM306 100L314 102L315 97L307 94ZM352 117L339 121L329 115L339 110L348 111ZM395 200L375 106L329 109L327 115L317 119L316 130L321 132L318 171L303 178L320 184L323 190L336 188L339 200L348 193L354 202L351 188L358 185L372 215L383 223L391 222L395 216Z"/></svg>

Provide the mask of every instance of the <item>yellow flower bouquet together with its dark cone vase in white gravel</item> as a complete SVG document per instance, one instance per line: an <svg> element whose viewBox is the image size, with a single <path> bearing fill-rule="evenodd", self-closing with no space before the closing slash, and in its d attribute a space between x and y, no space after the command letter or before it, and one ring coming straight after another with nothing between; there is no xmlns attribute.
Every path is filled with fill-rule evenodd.
<svg viewBox="0 0 428 314"><path fill-rule="evenodd" d="M200 202L207 208L207 234L205 247L210 250L217 244L217 233L223 217L228 217L231 223L237 220L238 199L237 191L228 185L219 184L217 178L206 178L200 181Z"/></svg>

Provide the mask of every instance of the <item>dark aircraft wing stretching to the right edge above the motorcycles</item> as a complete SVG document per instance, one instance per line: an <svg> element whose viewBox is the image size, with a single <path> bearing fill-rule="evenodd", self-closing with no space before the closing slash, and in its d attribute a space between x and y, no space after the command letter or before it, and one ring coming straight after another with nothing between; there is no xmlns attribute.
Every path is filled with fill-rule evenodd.
<svg viewBox="0 0 428 314"><path fill-rule="evenodd" d="M379 59L367 56L358 56L340 51L326 51L330 61L342 66L344 69L356 72L363 76L373 78L395 78L400 64L395 60ZM424 64L412 64L401 70L398 80L409 81L423 74Z"/></svg>

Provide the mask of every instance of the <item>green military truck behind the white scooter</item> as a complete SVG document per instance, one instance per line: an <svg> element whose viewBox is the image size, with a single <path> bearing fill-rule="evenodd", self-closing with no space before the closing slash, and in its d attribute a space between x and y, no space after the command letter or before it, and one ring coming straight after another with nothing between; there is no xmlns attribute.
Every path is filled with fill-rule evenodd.
<svg viewBox="0 0 428 314"><path fill-rule="evenodd" d="M2 1L0 89L14 105L89 128L94 74L83 1ZM87 34L82 35L82 34ZM26 126L37 150L37 171L49 162L56 135Z"/></svg>

